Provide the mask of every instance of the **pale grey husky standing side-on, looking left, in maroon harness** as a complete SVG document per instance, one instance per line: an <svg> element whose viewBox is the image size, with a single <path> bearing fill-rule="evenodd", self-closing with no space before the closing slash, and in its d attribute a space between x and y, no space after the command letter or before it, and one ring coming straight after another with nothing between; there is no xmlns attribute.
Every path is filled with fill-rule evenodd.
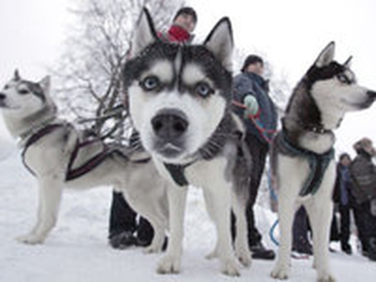
<svg viewBox="0 0 376 282"><path fill-rule="evenodd" d="M161 250L168 223L167 181L145 152L124 155L99 139L88 141L83 132L59 119L49 85L49 77L34 83L21 79L16 71L0 93L5 123L21 139L24 164L39 184L38 220L18 240L28 244L45 240L56 223L63 186L111 185L152 224L155 237L147 251Z"/></svg>

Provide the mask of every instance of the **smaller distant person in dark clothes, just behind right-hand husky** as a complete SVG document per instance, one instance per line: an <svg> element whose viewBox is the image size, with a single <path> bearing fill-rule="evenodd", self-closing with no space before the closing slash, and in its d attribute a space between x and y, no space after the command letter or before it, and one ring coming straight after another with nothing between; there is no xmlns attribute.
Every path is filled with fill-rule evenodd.
<svg viewBox="0 0 376 282"><path fill-rule="evenodd" d="M343 153L337 164L337 176L334 184L334 203L338 205L340 211L340 241L341 249L348 255L352 254L349 244L350 239L350 209L355 199L353 198L352 182L350 179L349 166L351 158L349 154Z"/></svg>

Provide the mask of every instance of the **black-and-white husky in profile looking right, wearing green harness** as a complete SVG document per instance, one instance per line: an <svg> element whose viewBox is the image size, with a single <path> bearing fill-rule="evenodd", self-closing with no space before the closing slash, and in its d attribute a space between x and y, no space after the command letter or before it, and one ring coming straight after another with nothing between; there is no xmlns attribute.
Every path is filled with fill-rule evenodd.
<svg viewBox="0 0 376 282"><path fill-rule="evenodd" d="M333 130L344 114L370 107L376 92L357 85L350 59L334 61L335 44L320 53L293 91L273 140L272 169L278 188L279 256L271 273L287 279L290 266L291 227L297 206L308 213L319 281L334 281L329 270L329 224L335 179Z"/></svg>

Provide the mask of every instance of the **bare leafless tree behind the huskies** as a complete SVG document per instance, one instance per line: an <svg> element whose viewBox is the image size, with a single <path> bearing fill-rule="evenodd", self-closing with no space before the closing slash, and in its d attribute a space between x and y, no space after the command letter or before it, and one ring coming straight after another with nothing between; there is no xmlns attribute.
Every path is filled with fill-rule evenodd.
<svg viewBox="0 0 376 282"><path fill-rule="evenodd" d="M80 0L71 9L77 23L54 70L59 106L68 118L102 138L121 140L129 125L121 90L121 67L132 48L143 7L164 30L183 0Z"/></svg>

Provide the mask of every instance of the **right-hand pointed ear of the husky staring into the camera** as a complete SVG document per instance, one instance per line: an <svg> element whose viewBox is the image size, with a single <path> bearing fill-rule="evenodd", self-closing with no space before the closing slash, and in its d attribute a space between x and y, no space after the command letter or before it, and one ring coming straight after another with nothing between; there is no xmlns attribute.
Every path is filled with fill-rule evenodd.
<svg viewBox="0 0 376 282"><path fill-rule="evenodd" d="M226 70L232 71L233 38L230 19L221 18L204 41L204 45L221 61Z"/></svg>

